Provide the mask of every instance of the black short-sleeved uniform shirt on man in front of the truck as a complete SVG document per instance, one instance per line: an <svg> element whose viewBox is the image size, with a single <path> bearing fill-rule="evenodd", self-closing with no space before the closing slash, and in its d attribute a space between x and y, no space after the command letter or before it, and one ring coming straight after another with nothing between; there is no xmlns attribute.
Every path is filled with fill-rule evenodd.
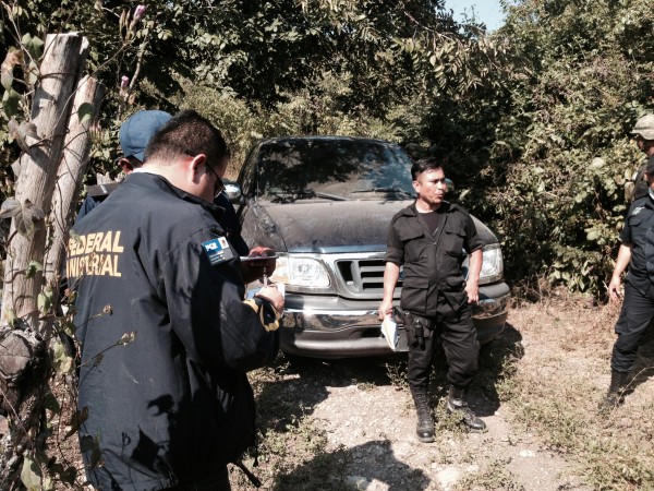
<svg viewBox="0 0 654 491"><path fill-rule="evenodd" d="M451 307L465 301L461 264L483 247L468 211L448 202L440 207L435 235L415 203L397 213L388 230L385 260L404 266L401 307L419 315L435 315L439 297Z"/></svg>

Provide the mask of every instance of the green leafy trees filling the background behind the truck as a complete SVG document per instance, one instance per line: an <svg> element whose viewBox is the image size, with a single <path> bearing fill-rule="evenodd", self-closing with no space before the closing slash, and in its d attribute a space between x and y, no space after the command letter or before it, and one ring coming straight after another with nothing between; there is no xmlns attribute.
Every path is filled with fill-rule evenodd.
<svg viewBox="0 0 654 491"><path fill-rule="evenodd" d="M446 158L459 197L504 238L511 279L546 274L602 290L640 158L627 130L652 106L645 0L506 2L492 35L455 22L443 0L137 7L2 2L2 45L17 55L3 71L15 77L3 77L0 140L14 141L9 121L28 106L44 35L78 31L92 43L88 70L109 87L96 171L118 153L120 122L143 107L203 107L230 127L238 156L257 135L284 132L414 142ZM7 165L17 152L3 146ZM528 258L534 250L542 261Z"/></svg>

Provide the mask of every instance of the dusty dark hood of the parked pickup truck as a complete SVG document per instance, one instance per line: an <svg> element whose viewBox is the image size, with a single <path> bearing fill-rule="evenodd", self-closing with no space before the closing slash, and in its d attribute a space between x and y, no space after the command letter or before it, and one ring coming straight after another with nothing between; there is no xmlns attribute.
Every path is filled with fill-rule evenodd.
<svg viewBox="0 0 654 491"><path fill-rule="evenodd" d="M250 212L257 223L246 237L249 243L275 246L276 250L303 253L386 252L392 216L409 201L310 201L272 204L261 202ZM474 218L474 217L473 217ZM484 243L497 242L495 235L474 219ZM246 230L244 230L245 232ZM271 243L274 242L274 243ZM284 248L280 248L283 244Z"/></svg>

